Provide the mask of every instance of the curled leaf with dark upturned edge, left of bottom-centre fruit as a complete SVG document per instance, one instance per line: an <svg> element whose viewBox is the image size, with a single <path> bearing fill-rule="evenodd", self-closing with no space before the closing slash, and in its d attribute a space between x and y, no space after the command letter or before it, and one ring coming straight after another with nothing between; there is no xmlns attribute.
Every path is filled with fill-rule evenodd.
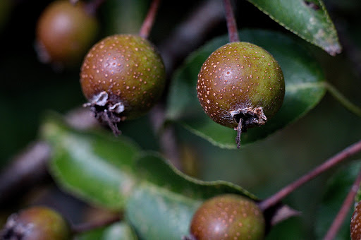
<svg viewBox="0 0 361 240"><path fill-rule="evenodd" d="M181 239L189 234L192 215L207 198L235 193L257 200L240 186L225 181L200 181L185 176L157 154L137 161L142 184L126 205L126 218L140 239Z"/></svg>

